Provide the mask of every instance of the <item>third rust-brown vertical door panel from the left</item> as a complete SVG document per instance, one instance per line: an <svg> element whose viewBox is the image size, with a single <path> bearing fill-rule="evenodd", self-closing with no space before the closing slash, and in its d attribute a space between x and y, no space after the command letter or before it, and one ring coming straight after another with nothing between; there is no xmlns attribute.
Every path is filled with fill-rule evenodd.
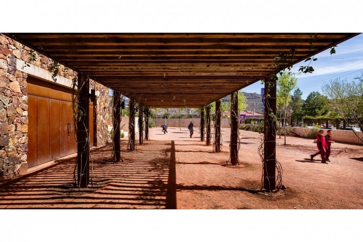
<svg viewBox="0 0 363 242"><path fill-rule="evenodd" d="M60 104L59 100L49 98L49 147L50 160L60 157Z"/></svg>

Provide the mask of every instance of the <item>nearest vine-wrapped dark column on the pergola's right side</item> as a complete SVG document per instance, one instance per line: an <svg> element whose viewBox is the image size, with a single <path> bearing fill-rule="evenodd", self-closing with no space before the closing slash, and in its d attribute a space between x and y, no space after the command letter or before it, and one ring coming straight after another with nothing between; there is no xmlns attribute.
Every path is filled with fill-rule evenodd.
<svg viewBox="0 0 363 242"><path fill-rule="evenodd" d="M276 78L265 79L264 188L276 189Z"/></svg>

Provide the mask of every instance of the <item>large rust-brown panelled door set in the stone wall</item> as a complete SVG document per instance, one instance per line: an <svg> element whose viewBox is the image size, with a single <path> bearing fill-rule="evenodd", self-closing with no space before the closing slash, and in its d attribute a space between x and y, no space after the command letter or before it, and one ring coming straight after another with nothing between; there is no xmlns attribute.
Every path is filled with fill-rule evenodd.
<svg viewBox="0 0 363 242"><path fill-rule="evenodd" d="M41 80L30 79L28 92L28 167L77 152L70 90ZM89 135L92 147L92 103L89 111Z"/></svg>

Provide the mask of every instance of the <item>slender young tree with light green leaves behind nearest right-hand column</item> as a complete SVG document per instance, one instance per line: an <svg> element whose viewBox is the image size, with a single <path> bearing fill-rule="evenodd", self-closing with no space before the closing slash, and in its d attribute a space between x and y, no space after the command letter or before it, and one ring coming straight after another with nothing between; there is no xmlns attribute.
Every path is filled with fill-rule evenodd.
<svg viewBox="0 0 363 242"><path fill-rule="evenodd" d="M290 104L291 94L290 92L296 87L297 78L291 76L290 72L284 71L277 79L277 100L276 103L280 103L283 106L284 115L284 132L285 132L285 144L286 145L286 112Z"/></svg>

